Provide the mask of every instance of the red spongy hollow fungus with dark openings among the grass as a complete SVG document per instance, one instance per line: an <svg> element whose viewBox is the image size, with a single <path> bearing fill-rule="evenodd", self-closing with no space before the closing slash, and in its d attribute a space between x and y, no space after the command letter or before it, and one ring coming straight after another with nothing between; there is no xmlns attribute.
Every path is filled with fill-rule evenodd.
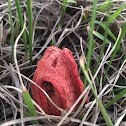
<svg viewBox="0 0 126 126"><path fill-rule="evenodd" d="M38 61L33 81L42 87L53 102L59 107L69 110L83 91L76 62L71 51L57 47L49 47L43 58ZM45 94L35 85L31 85L34 100L47 114L61 115L61 112L47 99ZM87 98L86 103L89 102Z"/></svg>

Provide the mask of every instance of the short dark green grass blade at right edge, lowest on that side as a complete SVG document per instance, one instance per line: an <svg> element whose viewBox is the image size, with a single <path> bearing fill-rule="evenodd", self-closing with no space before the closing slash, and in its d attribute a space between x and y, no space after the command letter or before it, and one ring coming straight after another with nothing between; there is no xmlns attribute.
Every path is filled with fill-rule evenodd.
<svg viewBox="0 0 126 126"><path fill-rule="evenodd" d="M105 108L108 108L110 107L111 105L113 105L113 103L115 103L116 101L118 101L120 98L122 98L124 95L126 94L126 88L121 91L118 95L116 95L115 98L113 98L110 102L108 102L104 107Z"/></svg>

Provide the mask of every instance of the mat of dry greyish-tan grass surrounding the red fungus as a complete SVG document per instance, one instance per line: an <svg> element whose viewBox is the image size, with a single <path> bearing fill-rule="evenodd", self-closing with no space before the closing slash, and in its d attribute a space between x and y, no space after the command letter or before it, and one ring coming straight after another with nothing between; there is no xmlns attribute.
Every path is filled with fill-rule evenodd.
<svg viewBox="0 0 126 126"><path fill-rule="evenodd" d="M78 0L79 1L79 0ZM15 41L17 39L17 34L21 32L16 29L16 7L14 1L12 4L12 13L14 21L14 34ZM98 3L98 6L102 1ZM113 3L112 11L119 8L121 2L116 1ZM22 12L26 14L25 1L21 1ZM81 5L81 7L80 7ZM63 20L63 27L59 28L58 23L61 15L61 2L58 0L34 0L32 3L33 8L33 65L29 66L29 57L25 57L25 50L22 37L18 40L16 56L17 63L21 72L24 85L31 93L30 83L37 67L37 61L42 58L42 54L46 48L52 45L52 39L54 45L62 48L63 46L69 48L74 56L75 61L78 64L78 70L80 75L83 73L79 66L79 57L82 53L88 51L88 38L89 38L89 23L86 23L83 19L83 12L87 15L87 21L90 20L91 14L91 1L79 1L77 7L69 6L67 8L66 16ZM125 12L125 11L124 11ZM106 20L106 13L99 12L97 14L97 20L104 22ZM123 17L125 13L122 13ZM26 15L27 17L27 15ZM26 31L27 31L27 19ZM120 33L120 28L124 24L122 17L118 17L110 26L111 31L117 37ZM17 31L19 30L19 31ZM102 29L96 25L95 31L102 33ZM27 33L28 34L28 33ZM37 117L24 117L23 113L27 111L27 107L22 99L22 90L20 87L20 82L17 76L17 71L15 64L11 64L11 29L9 21L9 9L6 0L0 1L0 124L2 126L9 126L15 124L22 125L32 125L32 120L39 120L39 125L68 125L68 126L82 126L83 124L88 126L105 126L104 118L98 108L98 104L94 99L90 87L87 86L87 94L90 96L90 103L83 106L80 105L78 110L73 113L70 117L75 104L79 102L79 99L83 97L85 91L78 98L76 103L71 107L71 109L65 113L63 116L53 116L47 115L38 106L41 113L38 112ZM113 44L115 42L110 39ZM94 75L92 75L95 65L98 60L99 52L102 46L102 40L94 37L95 48L93 50L91 65L90 65L90 77L92 83L94 84L95 91L98 94L99 99L103 104L109 102L115 97L113 90L114 87L118 89L126 88L126 63L122 63L122 59L126 54L126 41L125 38L121 44L121 51L123 53L117 53L113 63L111 65L110 71L107 74L105 85L102 85L103 75L106 70L106 65L109 62L111 53L113 52L112 45L106 44L106 50L104 51L102 61ZM96 84L96 76L98 76L99 85ZM118 81L123 81L125 85L116 85ZM48 95L48 94L47 94ZM47 96L49 97L49 96ZM85 99L84 99L85 100ZM34 104L36 104L34 102ZM59 108L60 109L60 108ZM85 114L82 118L83 113ZM124 96L114 105L107 109L107 113L110 116L113 123L118 126L119 124L123 126L126 120L124 116L126 114L126 97ZM122 124L121 124L121 123Z"/></svg>

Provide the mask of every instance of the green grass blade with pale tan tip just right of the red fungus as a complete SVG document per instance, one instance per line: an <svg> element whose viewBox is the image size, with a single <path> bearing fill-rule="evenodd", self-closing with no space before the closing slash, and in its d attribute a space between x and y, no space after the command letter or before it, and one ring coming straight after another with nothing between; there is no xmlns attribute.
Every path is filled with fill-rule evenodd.
<svg viewBox="0 0 126 126"><path fill-rule="evenodd" d="M80 59L80 66L81 66L81 69L82 69L85 77L87 78L87 81L88 81L88 83L89 83L89 85L91 87L92 93L94 94L94 96L96 98L96 101L98 102L99 108L100 108L100 110L101 110L101 112L103 114L103 117L105 119L105 122L106 122L107 126L113 126L113 123L112 123L110 117L108 116L104 106L102 105L101 101L99 100L99 98L98 98L98 96L97 96L97 94L96 94L96 92L94 90L92 82L91 82L91 80L90 80L90 78L88 76L88 73L87 73L87 71L86 71L86 69L84 67L84 59L82 59L82 58Z"/></svg>

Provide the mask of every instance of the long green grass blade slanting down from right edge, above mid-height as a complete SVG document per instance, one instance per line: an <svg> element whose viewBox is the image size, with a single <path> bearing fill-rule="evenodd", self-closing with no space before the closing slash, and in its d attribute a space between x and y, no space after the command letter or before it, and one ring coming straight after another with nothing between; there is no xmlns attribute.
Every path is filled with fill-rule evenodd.
<svg viewBox="0 0 126 126"><path fill-rule="evenodd" d="M105 81L105 78L106 78L106 75L107 75L107 73L108 73L108 70L109 70L109 68L110 68L110 66L111 66L111 64L112 64L112 60L114 59L115 54L116 54L116 52L118 51L118 49L119 49L119 47L120 47L120 44L121 44L121 42L122 42L122 39L123 39L125 33L126 33L126 23L124 24L124 26L123 26L123 28L122 28L122 32L121 32L120 37L119 37L119 39L118 39L118 41L117 41L116 47L115 47L115 49L114 49L114 51L113 51L113 53L112 53L110 62L109 62L109 64L108 64L107 70L106 70L105 75L104 75L104 78L103 78L103 83L104 83L104 81Z"/></svg>

